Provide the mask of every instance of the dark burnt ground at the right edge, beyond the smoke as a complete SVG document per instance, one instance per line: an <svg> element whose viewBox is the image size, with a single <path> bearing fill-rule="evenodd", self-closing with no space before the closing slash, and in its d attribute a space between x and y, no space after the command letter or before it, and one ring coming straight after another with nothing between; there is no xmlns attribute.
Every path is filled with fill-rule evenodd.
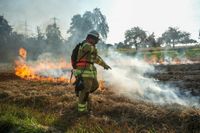
<svg viewBox="0 0 200 133"><path fill-rule="evenodd" d="M200 63L155 66L156 73L151 74L164 84L178 87L184 92L200 96Z"/></svg>

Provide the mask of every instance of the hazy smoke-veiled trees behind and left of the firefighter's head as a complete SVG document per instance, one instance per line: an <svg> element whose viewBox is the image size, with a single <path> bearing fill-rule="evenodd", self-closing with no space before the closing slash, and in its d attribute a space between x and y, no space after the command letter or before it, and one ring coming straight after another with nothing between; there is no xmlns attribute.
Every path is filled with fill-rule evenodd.
<svg viewBox="0 0 200 133"><path fill-rule="evenodd" d="M58 24L46 26L45 32L37 27L36 36L27 36L13 31L13 27L4 16L0 16L0 62L13 62L18 55L18 49L23 47L28 52L29 59L37 59L42 53L69 58L72 49L78 42L85 39L90 30L97 30L101 37L101 44L105 44L109 27L106 17L99 8L86 11L83 15L74 15L67 30L68 39L63 39Z"/></svg>

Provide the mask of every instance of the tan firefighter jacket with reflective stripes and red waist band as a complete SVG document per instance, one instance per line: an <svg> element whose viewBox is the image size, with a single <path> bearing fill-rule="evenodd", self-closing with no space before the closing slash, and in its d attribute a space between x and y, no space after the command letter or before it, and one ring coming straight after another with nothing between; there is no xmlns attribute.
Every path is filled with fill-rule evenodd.
<svg viewBox="0 0 200 133"><path fill-rule="evenodd" d="M88 78L96 78L97 70L94 64L98 64L102 67L106 66L103 59L98 56L97 49L94 45L85 42L79 48L77 58L77 69L74 70L74 75Z"/></svg>

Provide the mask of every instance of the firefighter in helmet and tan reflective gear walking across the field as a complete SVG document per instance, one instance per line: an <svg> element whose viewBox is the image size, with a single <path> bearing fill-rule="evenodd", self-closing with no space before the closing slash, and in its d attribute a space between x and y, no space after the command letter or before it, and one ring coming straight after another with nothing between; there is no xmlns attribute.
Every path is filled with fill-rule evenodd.
<svg viewBox="0 0 200 133"><path fill-rule="evenodd" d="M88 112L89 94L99 87L94 63L104 67L106 70L111 69L97 53L95 44L98 41L99 33L93 30L89 32L84 44L78 51L77 68L74 70L74 75L78 78L78 84L82 86L78 93L78 112Z"/></svg>

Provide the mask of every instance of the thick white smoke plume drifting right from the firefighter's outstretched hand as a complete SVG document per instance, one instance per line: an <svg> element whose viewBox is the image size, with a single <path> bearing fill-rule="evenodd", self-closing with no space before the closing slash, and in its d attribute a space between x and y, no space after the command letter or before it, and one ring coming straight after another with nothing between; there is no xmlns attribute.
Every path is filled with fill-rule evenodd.
<svg viewBox="0 0 200 133"><path fill-rule="evenodd" d="M200 97L180 92L178 88L161 84L145 76L146 72L154 73L154 67L141 59L128 57L110 51L107 63L112 70L104 73L111 90L119 96L129 99L144 100L155 104L180 104L199 107Z"/></svg>

